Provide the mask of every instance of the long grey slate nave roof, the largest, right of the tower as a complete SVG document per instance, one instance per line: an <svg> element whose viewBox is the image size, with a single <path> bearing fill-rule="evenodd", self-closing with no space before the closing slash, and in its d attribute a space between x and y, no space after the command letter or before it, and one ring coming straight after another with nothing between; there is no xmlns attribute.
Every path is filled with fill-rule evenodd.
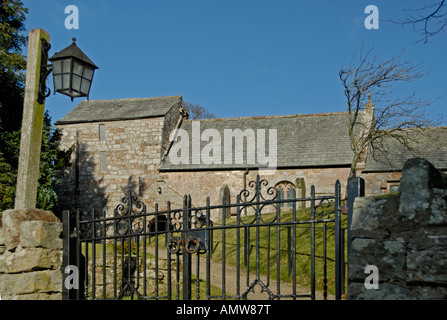
<svg viewBox="0 0 447 320"><path fill-rule="evenodd" d="M194 164L192 161L192 127L200 123L200 131L216 129L221 138L221 162L220 164L205 164L200 161ZM269 130L277 130L277 164L276 168L287 167L326 167L326 166L349 166L353 159L353 151L348 135L348 114L324 113L312 115L290 115L290 116L267 116L250 118L226 118L207 120L185 120L181 129L186 130L190 139L188 163L175 164L171 162L170 153L164 157L160 164L161 171L182 170L215 170L215 169L244 169L265 168L258 162L247 163L246 151L243 154L243 163L237 164L235 160L231 164L224 163L224 153L230 150L224 149L225 129L252 129L258 133L258 129L265 129L265 155L269 155ZM256 134L256 137L258 134ZM181 139L174 142L179 143ZM211 140L210 140L211 141ZM209 144L208 141L201 142L200 150ZM235 141L232 143L232 155L235 155ZM171 148L172 150L172 148ZM246 145L244 143L244 150ZM174 161L175 162L175 161Z"/></svg>

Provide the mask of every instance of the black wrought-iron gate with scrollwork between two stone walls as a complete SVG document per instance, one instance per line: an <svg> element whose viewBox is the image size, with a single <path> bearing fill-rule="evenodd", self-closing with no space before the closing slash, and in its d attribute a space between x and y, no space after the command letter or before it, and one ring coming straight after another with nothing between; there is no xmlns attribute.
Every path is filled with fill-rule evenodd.
<svg viewBox="0 0 447 320"><path fill-rule="evenodd" d="M339 181L334 195L312 187L310 197L288 199L259 176L248 185L236 203L194 207L185 196L181 208L147 212L129 195L113 216L64 211L64 297L340 299Z"/></svg>

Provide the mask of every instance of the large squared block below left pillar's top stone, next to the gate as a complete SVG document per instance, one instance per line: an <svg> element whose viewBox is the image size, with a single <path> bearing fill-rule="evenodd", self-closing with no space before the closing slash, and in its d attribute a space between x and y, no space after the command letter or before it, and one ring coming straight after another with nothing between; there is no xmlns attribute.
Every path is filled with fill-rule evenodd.
<svg viewBox="0 0 447 320"><path fill-rule="evenodd" d="M23 221L20 224L20 245L24 248L62 249L61 233L61 222Z"/></svg>

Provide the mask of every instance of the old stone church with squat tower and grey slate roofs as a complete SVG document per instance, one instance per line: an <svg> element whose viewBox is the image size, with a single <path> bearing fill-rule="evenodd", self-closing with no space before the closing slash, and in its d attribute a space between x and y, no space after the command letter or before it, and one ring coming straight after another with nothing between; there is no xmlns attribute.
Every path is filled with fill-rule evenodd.
<svg viewBox="0 0 447 320"><path fill-rule="evenodd" d="M371 121L374 107L362 111ZM282 198L344 194L353 151L348 113L190 120L181 96L82 101L56 122L62 148L74 146L72 166L57 190L62 209L113 210L132 193L153 210L180 208L190 194L194 206L235 203L256 175ZM419 137L420 156L447 170L447 128ZM367 195L398 188L405 160L414 157L393 141L388 156L369 152L357 165Z"/></svg>

